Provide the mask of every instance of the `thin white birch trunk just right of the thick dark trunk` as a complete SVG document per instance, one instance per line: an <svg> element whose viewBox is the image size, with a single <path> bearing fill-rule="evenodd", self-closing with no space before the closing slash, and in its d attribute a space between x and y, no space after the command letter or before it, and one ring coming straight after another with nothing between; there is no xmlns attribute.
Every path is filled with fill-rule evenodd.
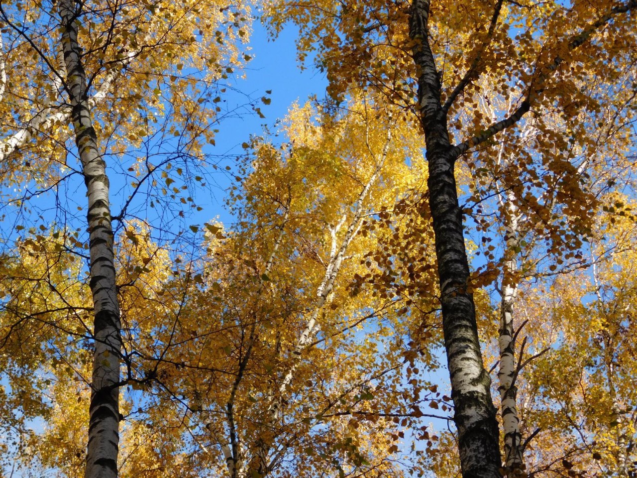
<svg viewBox="0 0 637 478"><path fill-rule="evenodd" d="M513 340L513 301L517 291L514 274L517 270L515 255L518 247L517 210L512 202L512 194L506 195L505 203L505 263L502 278L502 303L500 307L500 370L497 373L500 393L502 428L505 435L505 469L515 473L522 470L522 435L520 434L520 419L517 413L517 387L515 379L517 370L515 364L515 340Z"/></svg>

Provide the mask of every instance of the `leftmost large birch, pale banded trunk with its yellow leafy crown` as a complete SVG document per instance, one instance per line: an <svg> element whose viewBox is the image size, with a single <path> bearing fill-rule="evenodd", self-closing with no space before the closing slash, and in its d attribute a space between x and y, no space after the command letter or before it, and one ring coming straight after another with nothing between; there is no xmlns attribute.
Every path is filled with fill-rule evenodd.
<svg viewBox="0 0 637 478"><path fill-rule="evenodd" d="M27 241L43 246L54 242L58 255L67 251L83 257L78 251L87 249L89 252L87 283L92 307L85 310L90 310L92 318L80 319L75 311L79 326L70 328L71 337L90 337L90 348L94 351L91 378L83 375L82 366L75 369L91 391L84 475L115 477L119 423L123 419L119 389L131 379L140 379L131 376L129 354L134 350L135 338L122 337L122 303L118 289L124 285L117 282L120 271L116 267L114 238L117 229L123 227L127 232L118 238L138 245L127 213L129 208L140 210L138 196L142 186L158 191L155 201L158 205L162 202L168 205L169 209L164 211L172 209L176 216L185 218L185 212L190 214L190 210L196 208L192 197L180 198L187 191L187 185L182 184L181 189L169 188L176 179L169 177L173 173L166 170L172 168L171 158L175 157L191 161L198 157L194 164L185 167L197 169L204 164L201 147L206 141L214 143L217 130L213 131L212 126L217 113L223 114L217 105L220 100L213 101L210 95L223 89L219 82L227 79L240 61L248 59L247 55L240 54L239 46L241 36L247 34L247 10L243 6L222 5L220 8L216 4L200 8L196 3L176 6L74 1L48 7L50 10L38 3L18 3L3 4L0 10L2 35L10 40L8 48L3 42L6 51L0 69L5 100L0 145L3 186L14 187L14 193L20 191L20 196L13 194L8 199L12 206L17 206L9 214L17 217L15 231L18 234L32 236ZM200 18L205 20L199 22ZM233 21L227 27L222 26L228 18ZM215 29L217 36L212 34ZM167 57L174 62L166 63ZM170 146L168 134L178 137L178 140L170 140L173 143ZM68 140L74 145L67 145ZM166 154L166 147L172 153ZM135 151L141 150L145 150L145 159L138 156L124 166L127 154L134 156ZM78 167L71 159L74 156ZM155 158L160 157L159 164L153 164ZM107 166L115 170L127 168L128 172L122 175L125 182L135 179L132 185L124 186L124 190L129 187L128 196L122 198L117 215L111 214ZM88 227L85 243L78 240L77 233L68 230L73 227L69 216L75 213L69 208L73 198L64 196L73 188L68 183L74 174L82 177L88 198L88 208L78 205L78 210L86 210L87 214L83 228L79 222L77 229ZM176 175L182 175L182 168L176 168ZM158 180L165 184L163 189L157 189ZM47 193L52 193L58 201L54 215L47 212L46 205L38 203L39 194ZM173 208L172 201L183 206ZM148 208L148 203L146 206L142 203L141 208L144 207ZM150 208L153 207L150 201ZM38 232L50 229L52 236L40 235L35 232L36 228L24 226L33 211L36 215L39 213ZM59 228L55 221L62 217L66 224ZM113 221L117 221L117 225L113 225ZM161 222L156 224L161 227ZM182 223L182 227L185 224ZM176 228L171 231L175 235L180 233L183 231ZM18 243L23 240L23 237L17 238ZM15 237L8 233L6 254L11 254L13 241ZM38 254L45 252L37 245L35 250ZM147 264L148 258L145 258L143 265ZM27 273L31 275L31 271ZM4 279L8 283L4 290L11 296L16 290L12 281L15 284L16 279L20 282L23 277L10 275ZM135 280L127 285L132 286ZM57 291L59 284L51 282L50 277L48 284ZM37 282L34 286L38 287ZM12 335L17 334L16 328L30 321L55 315L55 312L73 314L74 300L64 292L57 293L62 302L66 302L57 310L43 308L33 313L19 302L11 301L5 317L15 322L7 328L5 345L9 339L15 340ZM56 330L56 323L52 322L53 326L47 328L41 344L55 341L57 333L69 334L69 329ZM130 334L130 328L127 329ZM17 344L19 346L19 342ZM39 347L46 348L46 345ZM124 377L120 377L122 364L127 365ZM40 366L46 371L49 365L50 358L47 358ZM31 363L31 366L37 369L39 365ZM140 365L140 368L144 367Z"/></svg>

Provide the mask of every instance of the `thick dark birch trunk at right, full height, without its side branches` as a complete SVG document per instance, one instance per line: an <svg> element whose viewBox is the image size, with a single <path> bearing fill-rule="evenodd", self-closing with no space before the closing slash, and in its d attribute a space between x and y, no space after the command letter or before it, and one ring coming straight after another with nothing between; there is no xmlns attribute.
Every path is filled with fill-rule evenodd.
<svg viewBox="0 0 637 478"><path fill-rule="evenodd" d="M447 115L440 75L429 47L429 0L413 0L410 38L418 75L418 103L429 165L429 207L438 258L443 333L464 478L501 478L499 430L478 340Z"/></svg>

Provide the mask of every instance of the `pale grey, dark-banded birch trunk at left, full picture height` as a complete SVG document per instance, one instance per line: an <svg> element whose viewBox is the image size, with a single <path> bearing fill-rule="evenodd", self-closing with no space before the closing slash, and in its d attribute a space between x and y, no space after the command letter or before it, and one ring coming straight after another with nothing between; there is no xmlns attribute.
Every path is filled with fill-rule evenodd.
<svg viewBox="0 0 637 478"><path fill-rule="evenodd" d="M80 3L61 0L66 90L71 100L75 143L89 196L90 289L94 303L95 354L89 408L89 447L85 478L117 477L119 441L120 315L115 289L113 229L106 164L97 148L87 98L87 80L78 45Z"/></svg>

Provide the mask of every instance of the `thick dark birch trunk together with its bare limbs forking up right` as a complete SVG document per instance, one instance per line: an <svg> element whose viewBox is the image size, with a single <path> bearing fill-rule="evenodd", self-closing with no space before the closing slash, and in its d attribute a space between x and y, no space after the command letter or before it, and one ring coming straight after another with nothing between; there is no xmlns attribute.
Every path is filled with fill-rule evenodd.
<svg viewBox="0 0 637 478"><path fill-rule="evenodd" d="M624 6L620 11L627 11L631 6ZM500 4L496 4L491 25L497 24ZM429 37L429 3L415 2L412 5L410 18L410 38L415 42L413 57L419 71L419 99L420 117L427 138L427 159L429 161L429 192L430 205L436 231L436 249L438 250L438 264L440 273L441 292L443 294L443 315L445 314L445 296L450 300L447 305L448 331L445 330L445 348L449 363L452 389L455 394L455 423L459 431L459 449L462 473L464 476L497 476L500 468L498 450L498 432L492 403L489 394L489 382L485 377L485 370L480 356L480 345L473 316L471 295L462 298L459 294L468 283L469 269L466 262L464 238L462 236L462 221L455 191L453 164L455 158L469 147L475 147L492 135L506 127L517 123L524 113L531 108L531 103L539 92L543 91L543 84L548 74L540 71L535 85L531 85L529 92L522 100L522 104L510 115L493 126L485 133L476 135L469 141L451 147L449 133L445 126L450 101L454 101L456 91L460 92L464 85L450 93L445 103L440 99L440 78L431 47ZM587 25L581 33L576 34L567 45L573 50L587 40L601 25L617 13L614 10L606 13L591 25ZM487 38L490 34L487 32ZM479 56L478 58L479 62ZM548 73L557 68L562 62L560 56L548 64ZM465 77L468 81L475 73L469 68ZM538 86L539 83L539 86ZM445 187L446 185L446 187ZM453 225L453 226L452 226ZM460 263L460 269L457 263ZM445 290L447 288L447 290ZM505 310L505 314L506 314ZM506 317L505 317L506 321ZM464 327L461 327L464 324ZM462 329L464 328L464 331ZM473 337L471 337L473 335ZM466 342L472 344L470 355L467 354ZM458 345L454 344L457 342ZM465 344L460 346L459 344ZM457 351L455 350L457 348ZM464 349L464 351L463 351ZM470 370L467 363L475 363ZM477 386L480 384L480 386ZM515 439L515 438L514 438Z"/></svg>

